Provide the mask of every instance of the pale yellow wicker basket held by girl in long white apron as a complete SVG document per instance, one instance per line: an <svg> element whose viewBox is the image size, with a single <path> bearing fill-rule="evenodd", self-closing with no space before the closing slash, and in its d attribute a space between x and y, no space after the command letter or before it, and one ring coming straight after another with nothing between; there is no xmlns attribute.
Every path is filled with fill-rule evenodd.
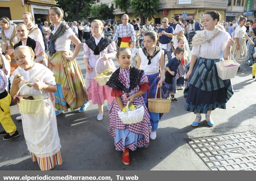
<svg viewBox="0 0 256 181"><path fill-rule="evenodd" d="M18 92L16 93L16 95L18 95L20 93L20 90L25 86L31 83L25 83L24 85L22 85L20 87L20 89L18 90ZM39 90L40 93L42 94L42 91ZM44 99L43 96L36 96L36 95L22 95L22 97L28 97L28 96L33 96L34 100L28 100L28 99L20 99L20 103L18 103L19 105L19 109L20 109L20 113L23 114L36 114L38 112L38 109L40 107L40 104L42 102L42 100Z"/></svg>

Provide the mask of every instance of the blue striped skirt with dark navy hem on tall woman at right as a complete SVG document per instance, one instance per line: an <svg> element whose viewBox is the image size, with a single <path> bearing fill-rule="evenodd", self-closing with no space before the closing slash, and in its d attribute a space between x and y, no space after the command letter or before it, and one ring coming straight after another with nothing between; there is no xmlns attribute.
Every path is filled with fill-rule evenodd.
<svg viewBox="0 0 256 181"><path fill-rule="evenodd" d="M219 78L215 65L218 61L198 57L184 90L185 110L206 114L216 108L226 109L226 103L234 91L230 79ZM189 65L186 72L188 69Z"/></svg>

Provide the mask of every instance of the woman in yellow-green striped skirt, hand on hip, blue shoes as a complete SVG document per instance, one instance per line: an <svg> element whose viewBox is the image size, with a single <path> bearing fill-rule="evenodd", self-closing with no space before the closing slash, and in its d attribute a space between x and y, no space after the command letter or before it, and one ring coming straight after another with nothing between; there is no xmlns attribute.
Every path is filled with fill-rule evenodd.
<svg viewBox="0 0 256 181"><path fill-rule="evenodd" d="M62 19L63 14L63 10L58 7L49 10L54 29L49 37L51 43L48 67L54 74L57 86L57 92L54 93L56 115L67 112L68 108L73 111L79 107L81 113L89 106L84 78L75 59L82 43ZM69 49L70 41L76 45L74 53Z"/></svg>

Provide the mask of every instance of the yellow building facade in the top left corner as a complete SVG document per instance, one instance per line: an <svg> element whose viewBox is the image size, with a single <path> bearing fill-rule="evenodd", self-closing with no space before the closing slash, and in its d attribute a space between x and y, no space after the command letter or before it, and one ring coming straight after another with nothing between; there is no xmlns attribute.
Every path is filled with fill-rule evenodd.
<svg viewBox="0 0 256 181"><path fill-rule="evenodd" d="M0 0L0 17L6 16L13 22L23 22L23 12L30 12L34 23L49 22L48 10L54 6L54 0Z"/></svg>

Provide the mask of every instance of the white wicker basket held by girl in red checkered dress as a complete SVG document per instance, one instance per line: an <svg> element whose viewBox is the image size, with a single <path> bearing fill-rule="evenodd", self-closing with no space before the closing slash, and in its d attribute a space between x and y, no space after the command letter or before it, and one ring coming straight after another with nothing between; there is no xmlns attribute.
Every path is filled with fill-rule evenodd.
<svg viewBox="0 0 256 181"><path fill-rule="evenodd" d="M127 110L126 112L118 111L117 114L120 117L121 121L124 124L134 124L141 122L144 117L144 107L140 106L140 108L134 110L134 111L128 111L129 101L127 103Z"/></svg>

